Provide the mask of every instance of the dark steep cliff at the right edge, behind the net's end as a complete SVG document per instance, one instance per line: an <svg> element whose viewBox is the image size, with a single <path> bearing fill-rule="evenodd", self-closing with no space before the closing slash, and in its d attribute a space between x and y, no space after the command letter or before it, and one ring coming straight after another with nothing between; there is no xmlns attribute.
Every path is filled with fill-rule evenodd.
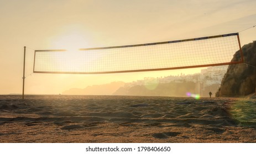
<svg viewBox="0 0 256 154"><path fill-rule="evenodd" d="M245 63L229 65L216 96L245 96L255 92L256 67L252 65L256 66L256 41L244 45L242 51L244 62L250 65ZM236 56L232 61L235 61L235 58Z"/></svg>

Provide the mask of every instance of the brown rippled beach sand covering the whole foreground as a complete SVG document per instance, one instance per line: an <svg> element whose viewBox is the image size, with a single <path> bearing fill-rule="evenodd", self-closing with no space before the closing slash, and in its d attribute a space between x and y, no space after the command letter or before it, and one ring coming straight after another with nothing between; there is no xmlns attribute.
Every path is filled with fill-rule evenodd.
<svg viewBox="0 0 256 154"><path fill-rule="evenodd" d="M0 96L0 142L256 142L256 100Z"/></svg>

